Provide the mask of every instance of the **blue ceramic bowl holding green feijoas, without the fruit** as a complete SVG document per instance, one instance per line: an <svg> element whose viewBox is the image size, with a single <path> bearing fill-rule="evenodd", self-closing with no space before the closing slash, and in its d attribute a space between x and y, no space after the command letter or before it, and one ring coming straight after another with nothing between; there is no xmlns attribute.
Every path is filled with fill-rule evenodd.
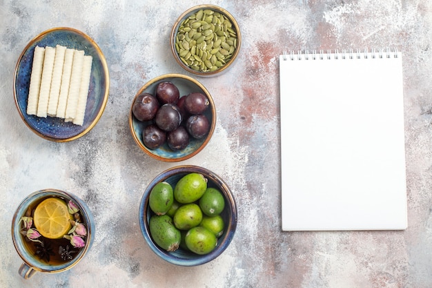
<svg viewBox="0 0 432 288"><path fill-rule="evenodd" d="M216 248L206 255L198 255L190 251L185 251L181 248L174 252L165 251L155 244L152 237L150 236L150 230L148 227L150 217L153 215L153 211L151 211L150 207L148 206L148 197L150 195L150 191L157 183L161 181L166 181L174 187L180 178L188 173L201 173L204 175L204 177L208 179L207 186L219 189L225 198L225 209L221 213L225 223L224 233L217 240ZM141 198L141 204L139 205L139 225L141 227L141 233L143 234L148 246L150 246L150 249L152 249L152 251L155 252L160 258L175 265L202 265L221 255L222 252L224 252L228 247L231 240L233 240L235 229L237 228L237 205L235 204L235 199L228 185L212 171L199 166L176 166L157 175L157 177L155 177L155 179L153 179L152 182L150 182L150 184L147 186L147 189L144 191L144 195Z"/></svg>

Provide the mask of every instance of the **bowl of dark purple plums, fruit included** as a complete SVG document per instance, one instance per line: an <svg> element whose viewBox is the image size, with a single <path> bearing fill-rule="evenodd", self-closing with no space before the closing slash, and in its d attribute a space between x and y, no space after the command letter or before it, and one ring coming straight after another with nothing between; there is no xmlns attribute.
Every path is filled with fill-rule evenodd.
<svg viewBox="0 0 432 288"><path fill-rule="evenodd" d="M166 74L148 81L130 106L129 127L136 144L147 155L179 162L197 155L213 135L216 109L199 81Z"/></svg>

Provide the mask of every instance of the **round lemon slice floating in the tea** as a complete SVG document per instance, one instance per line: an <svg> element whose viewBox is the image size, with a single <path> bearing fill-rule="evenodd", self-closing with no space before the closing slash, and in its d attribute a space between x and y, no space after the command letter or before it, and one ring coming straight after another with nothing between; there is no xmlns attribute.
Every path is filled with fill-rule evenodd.
<svg viewBox="0 0 432 288"><path fill-rule="evenodd" d="M33 215L35 227L45 238L59 239L72 228L68 206L59 198L48 198L39 203Z"/></svg>

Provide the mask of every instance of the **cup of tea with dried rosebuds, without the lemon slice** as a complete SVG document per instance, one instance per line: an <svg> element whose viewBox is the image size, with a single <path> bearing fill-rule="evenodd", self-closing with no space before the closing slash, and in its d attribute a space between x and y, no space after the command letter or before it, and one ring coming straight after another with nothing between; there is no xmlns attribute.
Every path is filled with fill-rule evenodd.
<svg viewBox="0 0 432 288"><path fill-rule="evenodd" d="M35 229L32 213L37 204L48 198L59 198L68 206L72 228L63 238L48 239ZM37 271L58 273L74 267L90 249L94 233L90 209L72 193L43 189L28 195L12 218L12 240L23 260L19 274L27 279Z"/></svg>

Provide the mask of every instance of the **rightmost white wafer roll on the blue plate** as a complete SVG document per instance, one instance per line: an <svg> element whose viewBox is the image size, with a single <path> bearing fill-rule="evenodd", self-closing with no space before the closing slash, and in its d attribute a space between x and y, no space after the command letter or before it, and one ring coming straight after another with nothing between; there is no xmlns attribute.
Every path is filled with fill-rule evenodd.
<svg viewBox="0 0 432 288"><path fill-rule="evenodd" d="M73 124L81 125L84 123L84 115L86 114L88 87L90 86L90 74L92 72L93 57L90 55L84 56L83 72L81 75L81 86L79 88L79 97L77 104L77 113L73 119Z"/></svg>

